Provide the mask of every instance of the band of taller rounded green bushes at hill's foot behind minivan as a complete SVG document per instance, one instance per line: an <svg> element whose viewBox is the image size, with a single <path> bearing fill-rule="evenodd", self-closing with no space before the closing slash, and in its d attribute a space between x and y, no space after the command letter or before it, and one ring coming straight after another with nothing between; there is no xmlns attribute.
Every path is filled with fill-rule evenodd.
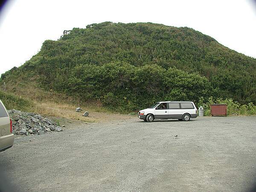
<svg viewBox="0 0 256 192"><path fill-rule="evenodd" d="M85 100L99 99L105 107L117 111L136 111L160 100L198 101L197 93L208 96L212 91L204 77L154 64L79 65L69 76L66 80L55 76L53 89Z"/></svg>

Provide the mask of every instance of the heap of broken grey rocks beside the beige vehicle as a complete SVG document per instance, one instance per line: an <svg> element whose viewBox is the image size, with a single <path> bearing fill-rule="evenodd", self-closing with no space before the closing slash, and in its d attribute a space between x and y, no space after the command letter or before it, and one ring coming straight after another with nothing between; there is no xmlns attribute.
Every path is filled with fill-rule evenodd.
<svg viewBox="0 0 256 192"><path fill-rule="evenodd" d="M26 113L15 109L9 110L12 119L12 132L15 135L46 134L62 131L62 127L51 119L36 113Z"/></svg>

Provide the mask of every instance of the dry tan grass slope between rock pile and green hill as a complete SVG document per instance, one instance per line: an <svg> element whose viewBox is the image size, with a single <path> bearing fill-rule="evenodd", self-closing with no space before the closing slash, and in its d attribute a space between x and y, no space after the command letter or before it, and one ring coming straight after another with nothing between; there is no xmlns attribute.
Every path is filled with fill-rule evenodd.
<svg viewBox="0 0 256 192"><path fill-rule="evenodd" d="M8 87L8 86L7 86ZM115 114L101 106L99 101L85 102L76 96L67 96L62 93L42 90L37 85L23 87L11 87L6 90L19 98L32 102L29 111L44 116L55 116L67 119L75 119L84 122L104 122L116 119L129 119L131 116ZM75 112L76 108L82 108L82 112L89 111L89 116L82 116L82 112Z"/></svg>

